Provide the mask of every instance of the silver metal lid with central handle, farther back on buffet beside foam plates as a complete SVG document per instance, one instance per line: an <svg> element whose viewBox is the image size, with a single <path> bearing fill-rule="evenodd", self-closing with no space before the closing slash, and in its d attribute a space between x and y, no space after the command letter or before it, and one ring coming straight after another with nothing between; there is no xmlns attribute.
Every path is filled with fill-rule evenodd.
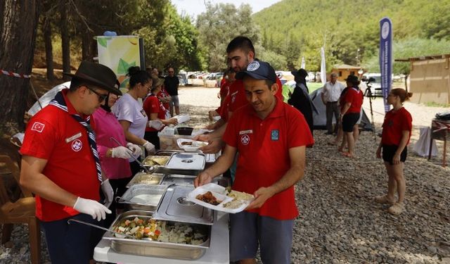
<svg viewBox="0 0 450 264"><path fill-rule="evenodd" d="M206 158L204 153L181 152L172 153L166 168L170 170L203 170Z"/></svg>

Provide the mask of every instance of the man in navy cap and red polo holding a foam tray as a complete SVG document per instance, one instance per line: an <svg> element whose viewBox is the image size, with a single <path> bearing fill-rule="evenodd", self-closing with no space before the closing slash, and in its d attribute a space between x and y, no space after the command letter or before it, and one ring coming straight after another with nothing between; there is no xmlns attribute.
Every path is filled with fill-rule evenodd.
<svg viewBox="0 0 450 264"><path fill-rule="evenodd" d="M305 146L314 139L302 113L276 96L281 87L269 63L253 61L236 78L243 80L249 104L229 119L224 154L194 183L211 182L239 152L233 189L255 200L230 215L230 260L254 263L259 244L263 263L288 264L298 215L294 185L304 175Z"/></svg>

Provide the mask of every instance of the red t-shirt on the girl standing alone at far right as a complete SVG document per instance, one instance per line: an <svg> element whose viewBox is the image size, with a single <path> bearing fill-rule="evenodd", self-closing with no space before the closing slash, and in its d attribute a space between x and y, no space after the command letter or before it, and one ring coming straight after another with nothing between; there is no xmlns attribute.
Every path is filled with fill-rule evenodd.
<svg viewBox="0 0 450 264"><path fill-rule="evenodd" d="M413 129L413 118L404 107L398 111L387 112L385 121L383 122L383 132L381 134L381 144L399 146L404 130L409 131L409 139L411 139L411 130Z"/></svg>

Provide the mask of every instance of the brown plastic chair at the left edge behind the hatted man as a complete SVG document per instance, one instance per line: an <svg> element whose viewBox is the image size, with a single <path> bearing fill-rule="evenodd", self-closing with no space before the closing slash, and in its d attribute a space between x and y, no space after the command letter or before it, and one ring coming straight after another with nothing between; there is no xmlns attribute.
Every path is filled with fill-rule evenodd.
<svg viewBox="0 0 450 264"><path fill-rule="evenodd" d="M18 163L14 163L9 156L0 155L0 163L11 170L15 181L19 183L20 169ZM32 193L27 189L22 190L23 198L11 201L4 184L4 178L0 179L0 224L3 225L1 232L1 243L4 244L11 239L14 224L27 224L30 235L30 251L32 263L39 263L41 258L41 230L36 218L35 200Z"/></svg>

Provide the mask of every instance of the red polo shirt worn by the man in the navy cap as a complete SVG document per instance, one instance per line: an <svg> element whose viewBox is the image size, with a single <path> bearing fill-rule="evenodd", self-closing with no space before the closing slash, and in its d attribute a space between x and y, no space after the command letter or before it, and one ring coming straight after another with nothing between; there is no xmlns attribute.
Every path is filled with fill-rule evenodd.
<svg viewBox="0 0 450 264"><path fill-rule="evenodd" d="M269 187L290 169L289 149L314 144L308 124L300 111L277 99L274 111L264 120L248 104L231 116L224 142L239 152L233 189L254 194ZM252 213L278 220L298 215L294 187L275 194Z"/></svg>

